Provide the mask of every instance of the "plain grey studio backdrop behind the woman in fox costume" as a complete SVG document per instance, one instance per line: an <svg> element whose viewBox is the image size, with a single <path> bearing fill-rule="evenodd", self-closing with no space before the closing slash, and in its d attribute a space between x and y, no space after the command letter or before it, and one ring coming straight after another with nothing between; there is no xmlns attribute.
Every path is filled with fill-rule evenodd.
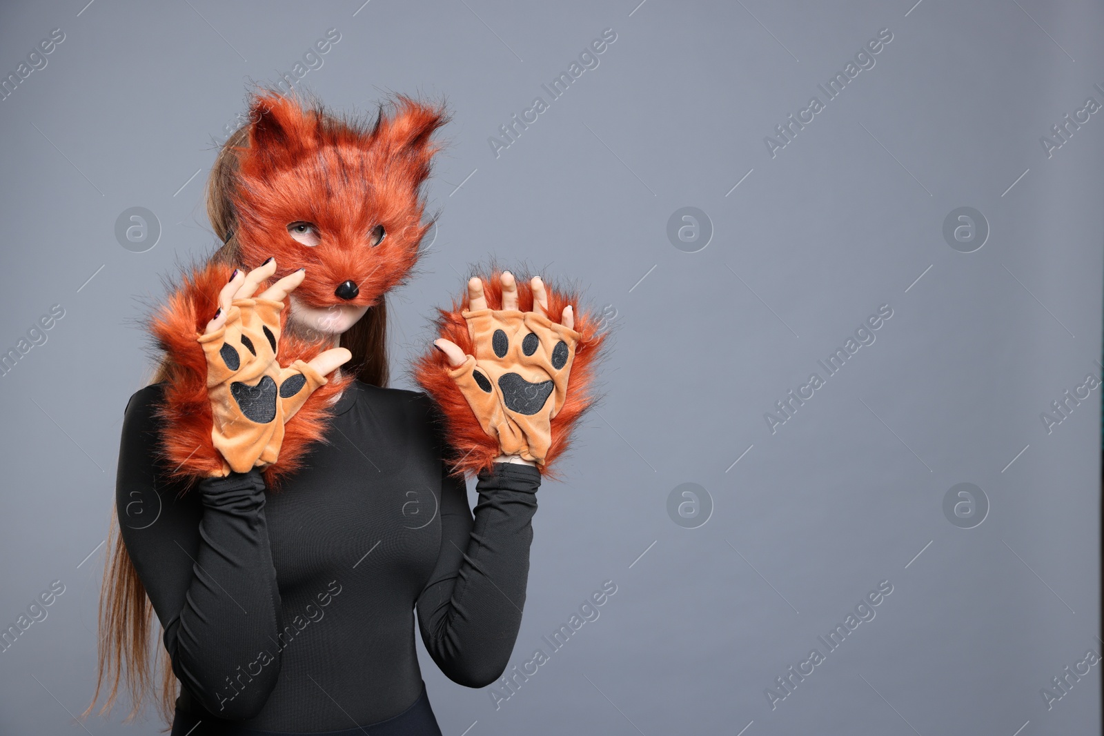
<svg viewBox="0 0 1104 736"><path fill-rule="evenodd" d="M65 309L0 378L0 621L66 586L0 654L0 732L158 730L119 725L126 703L84 729L66 713L94 687L97 545L149 370L134 322L214 245L203 180L247 83L336 28L301 81L329 106L395 90L455 113L438 237L390 302L393 385L490 254L616 313L605 402L540 491L511 664L617 593L498 710L421 650L445 734L1100 733L1102 665L1050 711L1040 690L1102 649L1101 391L1050 434L1040 413L1100 374L1104 113L1050 158L1039 141L1104 103L1098 3L85 2L0 11L4 74L65 33L0 103L0 346ZM488 137L606 28L598 67L496 158ZM772 158L764 137L882 28L874 67ZM162 228L146 253L114 236L131 206ZM697 253L666 235L682 206L712 223ZM990 227L974 253L942 235L959 206ZM772 434L764 413L883 303L877 341ZM686 482L713 504L697 529L667 512ZM974 529L943 513L959 482L990 504ZM877 617L827 653L880 580Z"/></svg>

